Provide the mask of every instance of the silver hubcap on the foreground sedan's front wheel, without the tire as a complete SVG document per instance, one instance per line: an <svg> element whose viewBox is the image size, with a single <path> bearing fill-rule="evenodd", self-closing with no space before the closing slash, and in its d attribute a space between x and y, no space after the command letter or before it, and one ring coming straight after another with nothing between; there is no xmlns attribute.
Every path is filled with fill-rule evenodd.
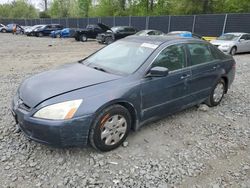
<svg viewBox="0 0 250 188"><path fill-rule="evenodd" d="M117 144L125 135L127 121L122 115L111 116L103 125L101 139L106 145Z"/></svg>

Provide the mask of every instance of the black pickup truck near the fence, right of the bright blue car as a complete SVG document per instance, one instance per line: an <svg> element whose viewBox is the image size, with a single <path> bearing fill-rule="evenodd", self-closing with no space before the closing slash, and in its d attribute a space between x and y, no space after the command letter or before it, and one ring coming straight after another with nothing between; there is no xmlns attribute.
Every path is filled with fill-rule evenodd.
<svg viewBox="0 0 250 188"><path fill-rule="evenodd" d="M76 41L85 42L88 38L95 39L99 33L104 33L110 28L102 23L97 25L87 25L85 29L76 31L75 39Z"/></svg>

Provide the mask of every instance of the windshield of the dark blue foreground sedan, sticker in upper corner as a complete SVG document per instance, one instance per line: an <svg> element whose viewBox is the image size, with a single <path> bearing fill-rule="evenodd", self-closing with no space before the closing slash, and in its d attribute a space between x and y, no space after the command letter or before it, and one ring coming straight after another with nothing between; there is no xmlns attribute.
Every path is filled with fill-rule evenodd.
<svg viewBox="0 0 250 188"><path fill-rule="evenodd" d="M117 41L90 56L83 63L113 74L131 74L156 48L157 45L149 43Z"/></svg>

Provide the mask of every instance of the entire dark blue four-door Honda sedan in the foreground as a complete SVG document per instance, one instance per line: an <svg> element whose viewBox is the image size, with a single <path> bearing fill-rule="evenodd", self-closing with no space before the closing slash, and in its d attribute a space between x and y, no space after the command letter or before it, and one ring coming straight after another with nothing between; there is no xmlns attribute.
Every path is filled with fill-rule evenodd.
<svg viewBox="0 0 250 188"><path fill-rule="evenodd" d="M109 151L149 121L218 105L234 76L234 59L203 40L130 36L28 78L12 112L32 140Z"/></svg>

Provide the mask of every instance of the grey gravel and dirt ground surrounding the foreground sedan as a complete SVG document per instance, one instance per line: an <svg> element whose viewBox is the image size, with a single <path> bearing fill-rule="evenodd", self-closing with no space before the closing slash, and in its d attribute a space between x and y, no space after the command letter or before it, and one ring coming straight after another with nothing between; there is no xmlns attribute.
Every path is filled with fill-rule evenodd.
<svg viewBox="0 0 250 188"><path fill-rule="evenodd" d="M250 54L235 56L236 80L218 107L187 109L99 153L29 141L8 109L23 79L102 46L11 34L0 41L0 187L250 187Z"/></svg>

